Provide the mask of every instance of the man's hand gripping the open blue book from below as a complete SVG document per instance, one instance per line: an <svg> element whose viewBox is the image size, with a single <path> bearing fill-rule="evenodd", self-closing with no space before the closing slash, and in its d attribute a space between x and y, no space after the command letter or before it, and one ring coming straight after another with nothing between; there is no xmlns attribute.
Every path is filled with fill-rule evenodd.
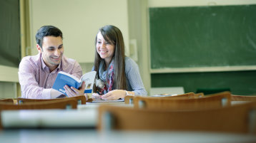
<svg viewBox="0 0 256 143"><path fill-rule="evenodd" d="M68 97L84 95L85 83L84 82L82 83L82 87L79 90L74 87L69 88L68 85L65 85L64 89L65 89Z"/></svg>

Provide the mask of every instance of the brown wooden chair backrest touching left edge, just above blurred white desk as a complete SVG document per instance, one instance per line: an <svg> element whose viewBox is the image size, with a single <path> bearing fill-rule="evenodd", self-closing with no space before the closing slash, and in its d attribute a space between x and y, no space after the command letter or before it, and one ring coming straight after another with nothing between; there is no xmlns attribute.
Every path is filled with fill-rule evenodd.
<svg viewBox="0 0 256 143"><path fill-rule="evenodd" d="M44 102L26 102L20 105L0 102L0 110L45 110L77 109L77 100L51 100Z"/></svg>

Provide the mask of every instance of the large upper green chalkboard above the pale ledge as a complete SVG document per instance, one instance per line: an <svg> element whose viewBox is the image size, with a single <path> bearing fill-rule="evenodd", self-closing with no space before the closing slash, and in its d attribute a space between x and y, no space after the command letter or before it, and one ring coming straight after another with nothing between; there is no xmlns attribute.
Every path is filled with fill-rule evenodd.
<svg viewBox="0 0 256 143"><path fill-rule="evenodd" d="M149 8L151 68L256 65L256 5Z"/></svg>

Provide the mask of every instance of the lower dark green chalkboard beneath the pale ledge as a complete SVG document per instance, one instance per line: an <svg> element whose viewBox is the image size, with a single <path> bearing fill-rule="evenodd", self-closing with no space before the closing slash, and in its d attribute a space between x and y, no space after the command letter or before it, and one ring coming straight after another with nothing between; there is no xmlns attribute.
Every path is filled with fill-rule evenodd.
<svg viewBox="0 0 256 143"><path fill-rule="evenodd" d="M198 89L229 89L234 95L256 95L256 71L206 73L154 73L152 87L183 87L184 92Z"/></svg>

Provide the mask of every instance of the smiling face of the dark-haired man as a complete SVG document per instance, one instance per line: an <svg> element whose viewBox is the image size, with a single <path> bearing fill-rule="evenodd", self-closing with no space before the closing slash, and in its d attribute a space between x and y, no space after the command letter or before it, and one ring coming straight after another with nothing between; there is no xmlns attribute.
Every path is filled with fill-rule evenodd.
<svg viewBox="0 0 256 143"><path fill-rule="evenodd" d="M37 45L38 51L41 53L44 63L54 70L61 62L64 53L62 38L54 36L45 36L43 38L42 47Z"/></svg>

